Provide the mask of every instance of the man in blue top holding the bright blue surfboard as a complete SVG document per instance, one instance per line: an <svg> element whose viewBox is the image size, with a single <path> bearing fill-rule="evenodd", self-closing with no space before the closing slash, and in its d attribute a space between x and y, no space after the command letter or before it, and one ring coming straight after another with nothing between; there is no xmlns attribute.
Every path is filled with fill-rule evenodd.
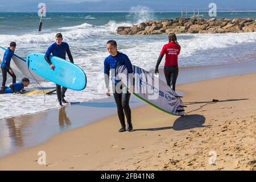
<svg viewBox="0 0 256 182"><path fill-rule="evenodd" d="M46 59L47 63L49 64L50 68L52 70L54 70L54 65L51 63L51 60L49 60L49 55L51 55L52 53L52 56L57 56L57 57L60 57L62 59L66 59L66 52L68 54L68 58L69 58L69 61L71 61L71 63L74 63L73 61L73 57L71 55L71 51L69 49L69 46L67 43L65 42L62 42L63 40L63 37L62 37L62 34L61 33L58 33L55 35L55 43L53 43L47 50L46 52L46 55L44 56L44 59ZM64 71L64 70L63 70ZM56 84L56 92L57 92L57 98L58 98L58 101L59 101L59 104L60 106L62 106L62 103L66 104L68 103L64 97L65 97L65 92L67 91L67 88L65 87L62 87L61 89L61 86Z"/></svg>

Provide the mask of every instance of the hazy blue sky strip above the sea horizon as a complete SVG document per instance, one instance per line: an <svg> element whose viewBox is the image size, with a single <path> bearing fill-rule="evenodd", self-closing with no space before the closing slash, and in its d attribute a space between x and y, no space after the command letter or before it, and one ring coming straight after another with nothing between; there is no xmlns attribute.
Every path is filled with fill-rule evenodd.
<svg viewBox="0 0 256 182"><path fill-rule="evenodd" d="M256 10L256 0L0 0L0 12L35 12L40 2L46 3L48 12L131 11L134 6L145 6L152 11L208 11L212 2L216 3L219 11Z"/></svg>

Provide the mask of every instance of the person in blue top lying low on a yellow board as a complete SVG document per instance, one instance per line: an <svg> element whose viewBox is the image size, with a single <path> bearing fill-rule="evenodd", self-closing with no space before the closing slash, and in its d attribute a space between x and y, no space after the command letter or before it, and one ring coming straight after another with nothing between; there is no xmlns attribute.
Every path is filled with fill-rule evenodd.
<svg viewBox="0 0 256 182"><path fill-rule="evenodd" d="M30 80L28 78L22 78L22 81L11 84L8 86L2 86L0 89L0 94L5 93L21 93L24 87L30 84Z"/></svg>

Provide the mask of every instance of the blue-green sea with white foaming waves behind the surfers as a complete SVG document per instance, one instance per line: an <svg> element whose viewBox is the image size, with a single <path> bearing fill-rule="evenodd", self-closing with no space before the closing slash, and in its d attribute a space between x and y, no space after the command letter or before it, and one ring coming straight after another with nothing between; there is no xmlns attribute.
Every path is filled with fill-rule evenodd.
<svg viewBox="0 0 256 182"><path fill-rule="evenodd" d="M221 12L217 18L256 18L255 12ZM88 84L82 91L67 90L66 99L72 102L86 102L105 98L104 59L109 55L106 42L114 39L118 51L129 56L131 63L154 70L159 53L168 43L167 35L121 36L116 33L118 26L131 26L146 20L175 19L180 13L150 12L138 9L134 13L47 13L43 18L43 28L38 32L37 13L0 13L0 46L17 44L16 55L26 59L30 52L45 53L54 42L57 32L63 34L63 41L69 44L75 64L87 76ZM201 18L209 18L208 13L200 13ZM181 46L179 67L205 67L209 65L232 64L256 58L256 33L245 34L181 34L177 35ZM1 60L2 61L2 60ZM163 62L160 68L163 67ZM22 75L15 72L17 81ZM7 76L6 85L11 84ZM0 75L2 82L2 76ZM179 80L178 80L179 81ZM43 88L54 88L52 82L40 82ZM40 89L31 81L28 90ZM59 107L56 95L22 96L0 95L0 119L16 115L36 113Z"/></svg>

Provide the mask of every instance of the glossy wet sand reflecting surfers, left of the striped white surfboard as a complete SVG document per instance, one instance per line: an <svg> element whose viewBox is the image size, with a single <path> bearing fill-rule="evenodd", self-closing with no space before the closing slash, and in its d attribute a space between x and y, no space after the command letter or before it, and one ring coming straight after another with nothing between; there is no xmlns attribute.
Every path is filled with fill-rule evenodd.
<svg viewBox="0 0 256 182"><path fill-rule="evenodd" d="M131 108L144 105L135 97ZM0 120L0 158L36 146L53 135L116 113L112 97Z"/></svg>

